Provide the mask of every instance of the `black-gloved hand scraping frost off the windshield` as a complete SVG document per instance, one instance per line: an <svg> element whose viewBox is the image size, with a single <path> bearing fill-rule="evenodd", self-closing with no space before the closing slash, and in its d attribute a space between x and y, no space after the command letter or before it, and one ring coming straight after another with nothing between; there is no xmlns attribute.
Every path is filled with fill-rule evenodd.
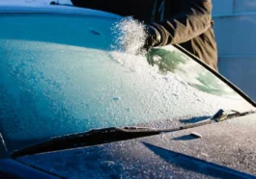
<svg viewBox="0 0 256 179"><path fill-rule="evenodd" d="M161 36L158 30L151 25L145 26L145 32L147 34L147 38L145 40L143 48L146 51L149 51L152 47L157 46L160 43Z"/></svg>

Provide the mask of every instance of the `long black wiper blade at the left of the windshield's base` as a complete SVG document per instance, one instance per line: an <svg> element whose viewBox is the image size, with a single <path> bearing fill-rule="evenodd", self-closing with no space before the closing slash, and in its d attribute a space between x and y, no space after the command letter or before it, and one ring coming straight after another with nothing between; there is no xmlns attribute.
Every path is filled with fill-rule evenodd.
<svg viewBox="0 0 256 179"><path fill-rule="evenodd" d="M158 130L155 128L146 127L109 127L102 129L93 129L88 132L54 137L47 141L33 144L23 149L14 151L14 153L12 154L12 158L44 152L77 148L82 146L91 146L114 141L125 141L135 138L157 135L164 131L167 130ZM174 131L174 129L171 129L169 131Z"/></svg>

